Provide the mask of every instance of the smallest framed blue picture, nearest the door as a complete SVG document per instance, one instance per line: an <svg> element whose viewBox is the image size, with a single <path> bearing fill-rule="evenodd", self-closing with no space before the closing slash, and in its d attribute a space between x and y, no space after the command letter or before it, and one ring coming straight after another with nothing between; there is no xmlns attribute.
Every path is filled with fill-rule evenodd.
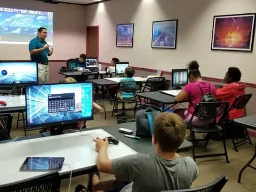
<svg viewBox="0 0 256 192"><path fill-rule="evenodd" d="M134 23L116 26L116 46L133 47Z"/></svg>

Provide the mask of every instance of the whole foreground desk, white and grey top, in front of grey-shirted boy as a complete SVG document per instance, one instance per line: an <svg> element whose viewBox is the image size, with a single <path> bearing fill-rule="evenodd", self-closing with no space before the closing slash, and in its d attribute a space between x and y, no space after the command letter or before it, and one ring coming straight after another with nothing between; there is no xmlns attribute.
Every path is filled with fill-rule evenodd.
<svg viewBox="0 0 256 192"><path fill-rule="evenodd" d="M99 133L99 137L106 137L108 135L113 135L115 138L117 138L119 141L121 141L121 148L110 145L110 157L111 158L116 158L117 155L115 152L115 150L117 150L117 153L119 156L125 156L125 155L129 155L129 154L134 154L135 151L139 152L139 153L154 153L154 149L152 147L152 143L151 143L151 138L141 138L141 140L134 140L134 139L130 139L130 138L125 138L123 133L119 133L118 129L119 128L126 128L126 129L131 129L133 130L134 134L135 134L135 124L134 122L131 123L124 123L124 124L115 124L115 125L108 125L108 126L102 126L102 127L94 127L91 129L82 129L80 130L81 132L75 132L75 130L64 130L65 133L68 134L63 134L63 135L57 135L57 136L51 136L50 132L44 133L44 135L46 136L45 138L39 138L39 139L35 139L38 137L42 137L42 135L34 135L34 136L29 136L29 137L23 137L23 138L18 138L17 140L15 140L15 142L12 143L3 143L0 144L0 153L3 152L1 150L8 150L6 148L7 147L12 147L15 151L10 151L8 153L8 157L11 156L11 162L15 162L15 168L12 168L12 174L22 174L23 177L33 177L34 175L33 172L31 173L25 173L25 172L19 172L19 168L22 164L22 161L25 160L24 156L31 156L31 155L41 155L41 156L49 156L49 155L54 155L54 156L63 156L66 157L65 159L65 163L70 163L73 166L75 166L73 168L72 167L72 175L73 176L77 176L77 175L82 175L82 174L88 174L90 172L96 171L97 167L95 166L95 149L94 149L94 143L92 142L92 137L90 137L89 141L87 142L87 140L85 140L86 137L84 137L84 135L86 134L91 134L92 131L100 131L101 133ZM103 132L102 132L102 131ZM75 133L74 133L75 132ZM81 135L82 134L82 135ZM51 136L51 137L47 137L47 136ZM97 135L94 134L93 137L96 137ZM88 137L88 138L89 138ZM49 138L49 139L47 139ZM52 140L51 140L52 138ZM5 142L10 141L10 140L6 140ZM29 142L28 142L29 141ZM46 142L47 141L47 142ZM86 142L85 142L86 141ZM2 141L4 142L4 141ZM13 143L17 143L17 145L13 146ZM45 143L45 145L42 145L43 143ZM55 143L55 145L54 145ZM56 143L58 143L56 145ZM33 145L31 145L33 144ZM10 146L9 146L10 145ZM129 146L129 147L127 147ZM184 151L184 150L189 150L192 147L192 143L185 140L182 145L179 147L178 151ZM37 148L40 150L37 150ZM59 151L59 149L61 148L61 153L57 154ZM93 150L92 150L93 149ZM112 150L113 149L113 150ZM80 151L78 151L80 150ZM122 150L122 151L119 151ZM6 151L5 151L6 153ZM29 153L29 154L28 154ZM92 153L92 154L91 154ZM22 158L20 156L20 154L22 155ZM68 154L71 156L68 156ZM68 157L67 157L68 156ZM7 157L6 157L7 158ZM87 162L87 164L83 164L82 160L86 159L86 158L90 158L89 163ZM4 162L4 164L2 164L3 159L5 159L5 157L0 156L0 167L2 171L5 171L5 169L8 169L10 165L9 160ZM77 160L79 162L77 162ZM68 162L67 162L67 161ZM17 164L17 165L16 165ZM4 167L6 166L6 167ZM6 180L13 180L14 177L11 173L8 173L8 177L12 177L12 178L5 178L4 181L6 182ZM29 175L27 175L29 174ZM35 174L35 173L34 173ZM37 174L42 174L37 173ZM21 175L19 175L20 178ZM61 179L67 179L70 176L70 172L68 170L67 166L63 166L62 171L60 172L60 177ZM18 176L17 176L18 177ZM17 178L15 176L15 178ZM23 178L22 178L23 179ZM25 179L25 178L24 178ZM2 183L3 180L0 180L0 183Z"/></svg>

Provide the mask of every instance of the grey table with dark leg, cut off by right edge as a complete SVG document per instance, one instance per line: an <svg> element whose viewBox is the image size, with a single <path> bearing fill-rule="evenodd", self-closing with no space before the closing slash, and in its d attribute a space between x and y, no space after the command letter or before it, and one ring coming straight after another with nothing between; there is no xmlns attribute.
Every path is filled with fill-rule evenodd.
<svg viewBox="0 0 256 192"><path fill-rule="evenodd" d="M256 130L256 115L237 118L237 119L234 119L234 122L239 124L239 125L243 125L243 126L246 126L250 129ZM242 170L239 172L238 182L241 182L242 173L246 169L246 167L251 167L252 169L256 169L256 167L251 165L251 163L254 161L255 157L256 157L256 145L255 145L255 150L254 150L253 157L250 159L250 161L248 163L246 163L246 165L243 166Z"/></svg>

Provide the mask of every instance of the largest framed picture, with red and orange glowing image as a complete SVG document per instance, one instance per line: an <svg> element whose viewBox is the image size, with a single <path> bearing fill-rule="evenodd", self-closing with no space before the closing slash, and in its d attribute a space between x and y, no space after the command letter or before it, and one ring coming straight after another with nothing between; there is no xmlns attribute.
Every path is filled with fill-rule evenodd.
<svg viewBox="0 0 256 192"><path fill-rule="evenodd" d="M211 49L252 51L254 29L255 13L214 16Z"/></svg>

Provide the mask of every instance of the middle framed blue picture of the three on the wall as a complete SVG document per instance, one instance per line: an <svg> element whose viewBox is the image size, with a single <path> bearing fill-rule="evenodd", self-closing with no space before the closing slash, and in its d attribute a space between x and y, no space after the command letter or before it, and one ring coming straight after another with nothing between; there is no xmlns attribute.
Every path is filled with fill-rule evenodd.
<svg viewBox="0 0 256 192"><path fill-rule="evenodd" d="M152 48L176 49L178 20L154 21Z"/></svg>

